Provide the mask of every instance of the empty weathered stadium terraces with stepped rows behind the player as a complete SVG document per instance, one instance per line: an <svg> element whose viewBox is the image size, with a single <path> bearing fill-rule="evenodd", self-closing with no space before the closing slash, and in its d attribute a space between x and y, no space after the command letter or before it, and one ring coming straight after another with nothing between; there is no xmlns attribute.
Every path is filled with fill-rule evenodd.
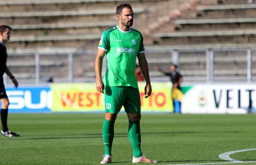
<svg viewBox="0 0 256 165"><path fill-rule="evenodd" d="M168 70L178 51L184 81L205 82L206 54L213 50L214 80L246 81L248 48L256 80L256 4L247 0L1 0L0 21L13 28L8 64L21 82L38 77L37 58L42 80L69 81L73 62L75 82L94 81L98 40L117 24L115 8L123 2L134 8L133 27L143 33L152 80L168 81L154 66Z"/></svg>

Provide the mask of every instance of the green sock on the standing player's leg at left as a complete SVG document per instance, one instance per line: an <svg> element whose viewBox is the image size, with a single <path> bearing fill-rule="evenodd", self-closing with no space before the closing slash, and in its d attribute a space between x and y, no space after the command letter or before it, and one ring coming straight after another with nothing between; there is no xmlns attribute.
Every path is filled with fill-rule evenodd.
<svg viewBox="0 0 256 165"><path fill-rule="evenodd" d="M114 138L114 124L115 121L104 120L102 135L105 147L105 154L111 156L112 142Z"/></svg>

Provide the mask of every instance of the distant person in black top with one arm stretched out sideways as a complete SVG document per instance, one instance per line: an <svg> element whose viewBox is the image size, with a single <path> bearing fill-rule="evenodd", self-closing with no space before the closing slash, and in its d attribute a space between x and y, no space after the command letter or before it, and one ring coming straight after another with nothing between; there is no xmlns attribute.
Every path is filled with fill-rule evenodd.
<svg viewBox="0 0 256 165"><path fill-rule="evenodd" d="M170 71L163 71L162 69L158 68L158 66L155 66L155 70L156 71L160 71L162 72L162 74L165 74L165 76L169 76L170 80L173 84L173 90L172 90L172 99L173 99L173 103L174 103L174 112L180 112L180 108L181 108L181 99L183 97L183 94L181 92L181 88L180 88L180 84L183 80L182 75L177 71L178 66L171 64L170 65ZM175 102L178 101L178 106L179 110L175 109Z"/></svg>

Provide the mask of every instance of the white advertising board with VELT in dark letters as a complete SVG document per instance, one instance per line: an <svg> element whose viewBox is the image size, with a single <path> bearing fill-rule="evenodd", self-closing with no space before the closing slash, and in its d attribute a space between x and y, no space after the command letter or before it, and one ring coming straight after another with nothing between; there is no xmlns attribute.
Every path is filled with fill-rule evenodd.
<svg viewBox="0 0 256 165"><path fill-rule="evenodd" d="M198 84L186 86L183 113L246 114L256 109L256 84ZM184 87L183 87L184 88Z"/></svg>

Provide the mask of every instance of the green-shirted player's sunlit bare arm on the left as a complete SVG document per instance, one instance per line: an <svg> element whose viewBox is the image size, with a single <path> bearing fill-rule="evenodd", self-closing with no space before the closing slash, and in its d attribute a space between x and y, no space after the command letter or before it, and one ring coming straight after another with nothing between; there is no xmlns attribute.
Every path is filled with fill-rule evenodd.
<svg viewBox="0 0 256 165"><path fill-rule="evenodd" d="M98 48L95 59L96 89L98 92L104 93L104 83L101 79L102 61L106 54L104 49Z"/></svg>

